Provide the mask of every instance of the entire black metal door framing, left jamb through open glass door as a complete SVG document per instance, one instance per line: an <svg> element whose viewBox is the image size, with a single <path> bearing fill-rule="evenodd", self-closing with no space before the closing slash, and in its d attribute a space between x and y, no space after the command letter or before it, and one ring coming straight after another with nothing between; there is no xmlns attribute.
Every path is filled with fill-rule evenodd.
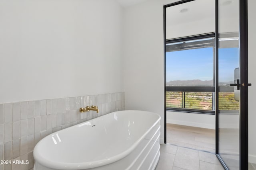
<svg viewBox="0 0 256 170"><path fill-rule="evenodd" d="M164 143L166 143L166 8L191 2L194 0L181 0L164 6ZM248 169L248 0L239 0L239 47L240 47L240 170ZM215 64L218 70L218 0L215 0ZM218 85L218 72L215 72L215 83ZM215 86L216 102L216 127L215 127L215 152L222 166L228 170L228 167L219 154L219 109L218 109L218 86Z"/></svg>

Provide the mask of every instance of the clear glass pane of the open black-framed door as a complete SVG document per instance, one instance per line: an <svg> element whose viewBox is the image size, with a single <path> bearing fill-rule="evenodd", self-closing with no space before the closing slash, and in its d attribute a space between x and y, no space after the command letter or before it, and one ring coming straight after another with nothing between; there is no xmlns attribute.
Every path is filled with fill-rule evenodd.
<svg viewBox="0 0 256 170"><path fill-rule="evenodd" d="M218 0L219 156L239 170L240 49L239 0Z"/></svg>

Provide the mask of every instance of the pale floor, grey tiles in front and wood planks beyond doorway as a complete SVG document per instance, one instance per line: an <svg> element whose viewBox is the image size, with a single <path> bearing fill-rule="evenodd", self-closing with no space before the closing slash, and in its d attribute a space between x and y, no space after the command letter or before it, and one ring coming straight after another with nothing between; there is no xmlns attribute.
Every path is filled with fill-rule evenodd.
<svg viewBox="0 0 256 170"><path fill-rule="evenodd" d="M214 130L167 124L166 133L156 170L224 170L214 154ZM248 165L256 170L256 164Z"/></svg>

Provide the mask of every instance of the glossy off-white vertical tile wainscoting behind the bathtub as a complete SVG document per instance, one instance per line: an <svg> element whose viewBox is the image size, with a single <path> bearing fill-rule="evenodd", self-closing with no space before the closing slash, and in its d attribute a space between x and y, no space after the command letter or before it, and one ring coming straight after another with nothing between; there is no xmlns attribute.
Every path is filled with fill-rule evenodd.
<svg viewBox="0 0 256 170"><path fill-rule="evenodd" d="M25 164L0 164L0 170L29 170L33 149L46 135L124 110L124 92L0 104L0 160L24 160ZM80 113L80 107L96 105L99 113ZM26 160L29 164L26 164Z"/></svg>

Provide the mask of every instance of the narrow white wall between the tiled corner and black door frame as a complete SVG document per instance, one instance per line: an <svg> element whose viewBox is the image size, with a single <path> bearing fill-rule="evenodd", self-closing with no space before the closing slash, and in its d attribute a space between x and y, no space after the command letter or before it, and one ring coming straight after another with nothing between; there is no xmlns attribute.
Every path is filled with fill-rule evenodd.
<svg viewBox="0 0 256 170"><path fill-rule="evenodd" d="M126 109L161 116L164 139L164 34L163 4L159 0L124 11L124 91ZM160 142L162 142L160 141Z"/></svg>

